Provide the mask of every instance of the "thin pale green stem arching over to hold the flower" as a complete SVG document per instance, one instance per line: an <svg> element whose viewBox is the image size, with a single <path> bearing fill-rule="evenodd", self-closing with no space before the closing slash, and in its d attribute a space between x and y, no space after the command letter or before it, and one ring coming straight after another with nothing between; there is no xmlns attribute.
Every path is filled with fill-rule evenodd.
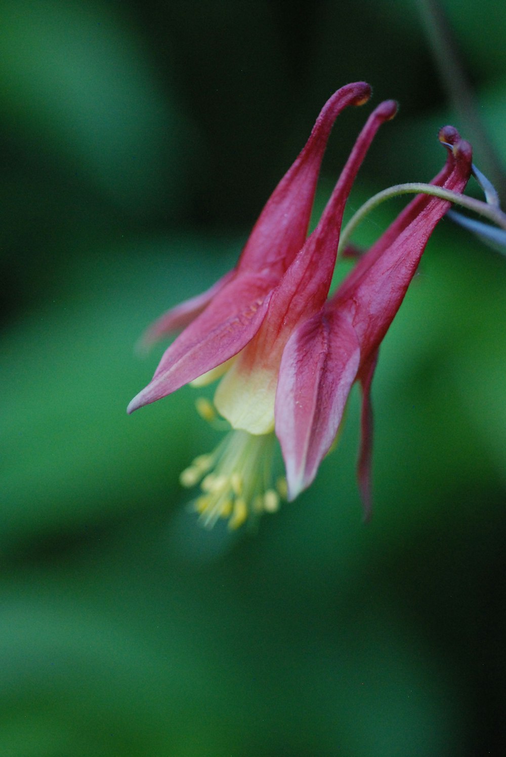
<svg viewBox="0 0 506 757"><path fill-rule="evenodd" d="M388 189L383 189L383 192L378 192L377 195L374 195L374 197L371 197L365 202L343 229L343 232L340 235L339 249L342 250L347 245L355 228L365 216L371 212L371 210L374 210L375 207L385 200L390 200L390 198L397 197L398 195L432 195L433 197L439 197L442 200L448 200L455 205L467 207L468 210L473 210L480 216L488 218L489 221L500 226L501 229L506 230L506 213L503 213L498 207L489 205L480 200L475 200L466 195L459 195L458 192L452 192L450 189L443 189L442 187L437 187L433 184L418 184L412 182L409 184L396 184Z"/></svg>

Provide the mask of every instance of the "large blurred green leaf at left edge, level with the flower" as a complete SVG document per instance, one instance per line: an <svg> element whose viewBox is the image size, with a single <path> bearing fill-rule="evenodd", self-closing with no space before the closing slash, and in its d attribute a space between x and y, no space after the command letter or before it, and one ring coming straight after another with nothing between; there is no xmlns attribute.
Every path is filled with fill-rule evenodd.
<svg viewBox="0 0 506 757"><path fill-rule="evenodd" d="M177 252L172 260L148 247L142 263L126 248L120 257L108 251L102 261L69 263L61 299L6 332L2 540L41 527L61 531L162 493L169 506L200 419L189 390L126 416L157 364L154 355L135 357L133 344L151 319L224 269L200 239L157 244L164 246Z"/></svg>

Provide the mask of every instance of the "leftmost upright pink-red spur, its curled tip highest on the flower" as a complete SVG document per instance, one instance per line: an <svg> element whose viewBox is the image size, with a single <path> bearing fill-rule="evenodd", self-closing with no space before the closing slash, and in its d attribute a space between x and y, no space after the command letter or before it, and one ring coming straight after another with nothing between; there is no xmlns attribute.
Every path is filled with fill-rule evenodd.
<svg viewBox="0 0 506 757"><path fill-rule="evenodd" d="M316 182L328 137L337 116L349 105L362 105L371 96L365 82L347 84L324 104L306 145L285 173L260 213L237 268L269 268L278 276L287 269L306 241Z"/></svg>

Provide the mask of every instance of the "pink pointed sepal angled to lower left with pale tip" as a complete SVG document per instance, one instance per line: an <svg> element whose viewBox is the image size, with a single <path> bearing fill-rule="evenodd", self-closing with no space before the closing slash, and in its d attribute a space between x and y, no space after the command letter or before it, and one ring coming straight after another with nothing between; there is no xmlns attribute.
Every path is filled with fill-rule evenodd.
<svg viewBox="0 0 506 757"><path fill-rule="evenodd" d="M233 357L253 338L265 317L273 282L262 274L237 276L172 342L150 384L128 413L188 384Z"/></svg>

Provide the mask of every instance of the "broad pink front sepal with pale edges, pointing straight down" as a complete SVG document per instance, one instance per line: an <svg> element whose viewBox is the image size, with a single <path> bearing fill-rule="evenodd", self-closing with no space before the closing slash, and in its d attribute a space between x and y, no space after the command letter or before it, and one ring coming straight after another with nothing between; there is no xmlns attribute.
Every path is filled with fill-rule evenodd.
<svg viewBox="0 0 506 757"><path fill-rule="evenodd" d="M275 430L290 500L311 484L331 447L359 363L359 341L340 313L317 313L288 340L276 392Z"/></svg>

